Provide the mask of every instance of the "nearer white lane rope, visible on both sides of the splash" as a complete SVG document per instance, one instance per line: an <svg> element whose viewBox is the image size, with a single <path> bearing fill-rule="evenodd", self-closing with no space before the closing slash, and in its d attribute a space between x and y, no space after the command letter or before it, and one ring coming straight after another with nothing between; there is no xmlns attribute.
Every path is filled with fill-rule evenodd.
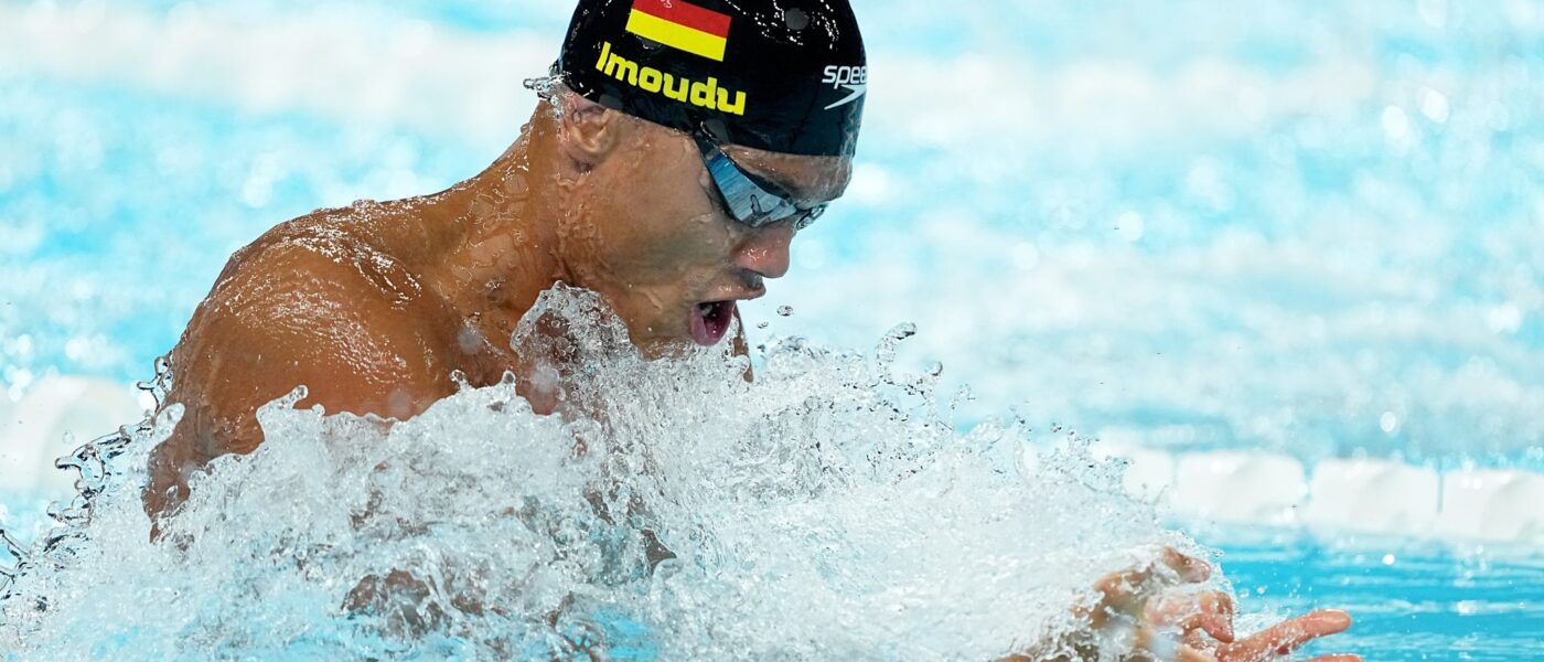
<svg viewBox="0 0 1544 662"><path fill-rule="evenodd" d="M15 404L0 401L0 485L14 494L68 494L69 474L54 468L54 460L71 449L66 438L83 443L137 421L153 404L145 397L103 380L49 377ZM1112 431L1090 451L1095 457L1126 461L1121 481L1127 494L1181 517L1413 539L1544 543L1539 474L1464 469L1441 475L1388 460L1325 460L1305 481L1302 464L1288 457L1258 452L1177 457L1143 448L1135 431L1126 432ZM1034 454L1030 458L1038 461Z"/></svg>

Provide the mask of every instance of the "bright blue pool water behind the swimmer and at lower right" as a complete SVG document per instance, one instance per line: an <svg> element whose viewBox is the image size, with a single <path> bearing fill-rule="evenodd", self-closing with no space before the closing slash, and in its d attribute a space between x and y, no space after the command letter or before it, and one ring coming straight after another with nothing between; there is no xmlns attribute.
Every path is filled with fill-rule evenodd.
<svg viewBox="0 0 1544 662"><path fill-rule="evenodd" d="M559 5L11 2L0 29L48 12L213 15L238 34L327 20L550 52ZM916 321L903 361L971 384L962 429L1011 409L1170 451L1544 471L1544 8L855 5L874 66L858 176L747 307L753 341L869 347ZM363 116L0 52L12 400L49 373L148 377L232 250L317 207L463 179L530 111L466 130L455 100L431 120ZM1337 650L1544 657L1529 554L1197 535L1255 613L1349 606Z"/></svg>

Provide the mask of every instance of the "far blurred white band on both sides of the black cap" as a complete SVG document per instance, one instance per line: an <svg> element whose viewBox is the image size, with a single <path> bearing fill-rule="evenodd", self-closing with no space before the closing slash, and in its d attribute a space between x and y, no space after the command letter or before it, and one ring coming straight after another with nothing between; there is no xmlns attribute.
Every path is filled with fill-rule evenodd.
<svg viewBox="0 0 1544 662"><path fill-rule="evenodd" d="M165 17L107 3L0 5L0 62L14 71L128 82L258 111L397 122L468 140L514 137L533 105L519 82L545 73L557 45L556 34L469 32L337 9L250 22L193 5ZM871 120L937 145L1240 136L1280 117L1345 116L1377 91L1368 63L1337 59L1282 76L1218 59L1167 73L1122 60L1042 68L982 52L871 59L885 63L869 91ZM962 113L973 120L959 122Z"/></svg>

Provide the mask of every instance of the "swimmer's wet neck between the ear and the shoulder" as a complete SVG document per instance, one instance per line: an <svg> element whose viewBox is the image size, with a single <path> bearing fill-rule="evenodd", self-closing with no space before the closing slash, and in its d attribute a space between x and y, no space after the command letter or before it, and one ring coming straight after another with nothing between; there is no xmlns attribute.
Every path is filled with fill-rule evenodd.
<svg viewBox="0 0 1544 662"><path fill-rule="evenodd" d="M466 326L500 353L536 298L571 281L559 256L565 196L553 130L543 105L514 147L434 202L455 227L434 281Z"/></svg>

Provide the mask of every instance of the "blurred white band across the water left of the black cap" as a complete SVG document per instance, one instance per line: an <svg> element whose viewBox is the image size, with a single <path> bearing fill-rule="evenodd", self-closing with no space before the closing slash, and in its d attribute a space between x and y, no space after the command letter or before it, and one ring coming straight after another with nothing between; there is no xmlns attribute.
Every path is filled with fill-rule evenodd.
<svg viewBox="0 0 1544 662"><path fill-rule="evenodd" d="M193 5L165 17L105 3L0 5L0 62L14 73L466 140L514 139L536 102L520 80L545 74L559 40L337 11L252 22Z"/></svg>

